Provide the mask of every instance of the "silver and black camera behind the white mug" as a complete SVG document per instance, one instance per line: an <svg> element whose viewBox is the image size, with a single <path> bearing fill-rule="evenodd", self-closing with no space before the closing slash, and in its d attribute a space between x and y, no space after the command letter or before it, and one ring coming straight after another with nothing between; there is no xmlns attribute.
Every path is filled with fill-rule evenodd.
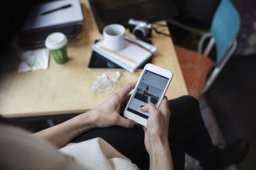
<svg viewBox="0 0 256 170"><path fill-rule="evenodd" d="M129 30L139 39L144 39L151 36L152 24L143 20L134 20L133 18L128 21Z"/></svg>

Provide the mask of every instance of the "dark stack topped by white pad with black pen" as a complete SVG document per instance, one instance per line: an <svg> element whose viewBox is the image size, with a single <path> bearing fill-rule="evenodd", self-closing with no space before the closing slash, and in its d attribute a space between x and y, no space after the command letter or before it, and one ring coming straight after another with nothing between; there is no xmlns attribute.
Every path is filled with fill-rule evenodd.
<svg viewBox="0 0 256 170"><path fill-rule="evenodd" d="M63 32L68 39L79 38L83 13L79 0L47 1L31 8L18 36L22 48L42 47L52 32Z"/></svg>

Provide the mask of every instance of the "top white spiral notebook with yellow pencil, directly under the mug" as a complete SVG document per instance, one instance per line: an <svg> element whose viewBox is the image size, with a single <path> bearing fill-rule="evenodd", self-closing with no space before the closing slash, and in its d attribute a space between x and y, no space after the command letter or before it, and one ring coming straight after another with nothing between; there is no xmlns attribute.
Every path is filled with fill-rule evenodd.
<svg viewBox="0 0 256 170"><path fill-rule="evenodd" d="M152 47L156 49L155 46ZM152 53L148 52L147 50L141 48L138 45L130 43L129 41L125 41L125 48L118 52L113 52L105 48L103 39L95 43L92 46L92 49L93 51L102 55L102 57L111 60L118 66L127 69L127 71L130 71L131 73L134 72L135 69L138 69L141 64L143 64L152 56Z"/></svg>

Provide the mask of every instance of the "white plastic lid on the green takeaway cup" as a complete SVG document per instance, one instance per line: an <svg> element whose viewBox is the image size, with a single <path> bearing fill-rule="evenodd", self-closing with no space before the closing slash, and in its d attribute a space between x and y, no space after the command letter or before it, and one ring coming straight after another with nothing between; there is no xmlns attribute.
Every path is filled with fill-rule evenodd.
<svg viewBox="0 0 256 170"><path fill-rule="evenodd" d="M46 48L50 50L58 50L67 45L68 39L62 32L54 32L49 34L45 40Z"/></svg>

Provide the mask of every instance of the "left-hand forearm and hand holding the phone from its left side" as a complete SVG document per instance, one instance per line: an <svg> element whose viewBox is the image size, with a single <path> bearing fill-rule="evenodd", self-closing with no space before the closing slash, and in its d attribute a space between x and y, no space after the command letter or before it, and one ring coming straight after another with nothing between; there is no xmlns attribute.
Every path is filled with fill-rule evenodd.
<svg viewBox="0 0 256 170"><path fill-rule="evenodd" d="M98 127L110 127L120 125L123 127L134 127L136 122L126 119L120 115L129 100L129 93L134 89L136 82L127 84L124 89L119 90L104 103L86 113L77 115L61 124L36 132L35 136L46 139L58 148L67 145L72 139L86 131Z"/></svg>

